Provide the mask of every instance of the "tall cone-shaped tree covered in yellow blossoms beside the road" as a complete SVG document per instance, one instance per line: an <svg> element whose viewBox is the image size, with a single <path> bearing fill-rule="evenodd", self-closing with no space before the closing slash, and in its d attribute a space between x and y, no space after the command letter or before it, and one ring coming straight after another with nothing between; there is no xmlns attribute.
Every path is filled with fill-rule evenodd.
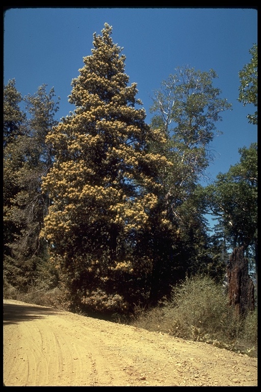
<svg viewBox="0 0 261 392"><path fill-rule="evenodd" d="M43 178L52 204L42 236L72 307L124 311L146 301L153 258L147 233L158 207L159 168L167 160L149 153L162 139L145 124L128 85L125 56L107 23L94 33L92 55L72 81L76 109L48 135L55 162ZM168 230L164 214L162 228Z"/></svg>

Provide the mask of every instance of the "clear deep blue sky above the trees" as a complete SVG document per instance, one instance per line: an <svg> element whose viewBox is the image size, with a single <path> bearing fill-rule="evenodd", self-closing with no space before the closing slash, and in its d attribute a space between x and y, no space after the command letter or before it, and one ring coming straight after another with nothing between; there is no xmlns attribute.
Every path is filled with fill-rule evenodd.
<svg viewBox="0 0 261 392"><path fill-rule="evenodd" d="M137 83L137 98L149 124L150 96L178 66L213 68L214 81L233 110L223 113L212 143L216 160L208 168L212 179L239 162L238 149L257 141L257 127L248 124L254 107L237 101L239 71L251 60L257 43L257 10L242 8L11 8L4 14L4 84L16 80L24 96L47 84L61 97L58 119L74 110L68 103L71 81L91 55L93 33L105 22L112 39L123 47L125 72Z"/></svg>

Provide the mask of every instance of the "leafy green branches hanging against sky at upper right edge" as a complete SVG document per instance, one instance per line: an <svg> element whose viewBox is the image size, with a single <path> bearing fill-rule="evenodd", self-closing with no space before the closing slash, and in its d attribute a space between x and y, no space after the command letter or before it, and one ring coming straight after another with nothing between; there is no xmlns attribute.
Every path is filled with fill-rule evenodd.
<svg viewBox="0 0 261 392"><path fill-rule="evenodd" d="M257 44L249 50L252 56L250 62L239 72L239 102L244 106L252 104L257 107ZM257 125L257 110L254 114L247 115L250 124Z"/></svg>

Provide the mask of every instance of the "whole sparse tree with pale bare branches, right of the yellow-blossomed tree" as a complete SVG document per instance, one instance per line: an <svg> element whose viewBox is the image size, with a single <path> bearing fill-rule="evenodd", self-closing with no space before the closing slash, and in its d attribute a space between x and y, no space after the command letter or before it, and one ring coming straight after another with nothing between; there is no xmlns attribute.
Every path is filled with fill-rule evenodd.
<svg viewBox="0 0 261 392"><path fill-rule="evenodd" d="M172 163L161 172L162 201L167 218L179 233L173 238L165 276L170 276L173 264L184 273L194 273L199 268L202 272L209 271L212 263L207 246L207 222L195 192L214 158L211 142L219 133L216 123L222 120L221 113L231 108L220 97L221 90L213 85L215 78L213 69L202 72L190 67L177 68L154 91L152 98L150 111L155 114L151 127L161 130L166 143L152 143L151 149ZM215 271L215 267L211 269Z"/></svg>

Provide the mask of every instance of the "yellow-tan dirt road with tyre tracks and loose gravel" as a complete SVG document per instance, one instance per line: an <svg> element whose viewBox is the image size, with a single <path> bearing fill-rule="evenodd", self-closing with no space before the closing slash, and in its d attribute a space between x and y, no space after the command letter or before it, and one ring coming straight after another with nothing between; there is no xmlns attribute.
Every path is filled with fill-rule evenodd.
<svg viewBox="0 0 261 392"><path fill-rule="evenodd" d="M257 359L4 300L6 386L257 386Z"/></svg>

